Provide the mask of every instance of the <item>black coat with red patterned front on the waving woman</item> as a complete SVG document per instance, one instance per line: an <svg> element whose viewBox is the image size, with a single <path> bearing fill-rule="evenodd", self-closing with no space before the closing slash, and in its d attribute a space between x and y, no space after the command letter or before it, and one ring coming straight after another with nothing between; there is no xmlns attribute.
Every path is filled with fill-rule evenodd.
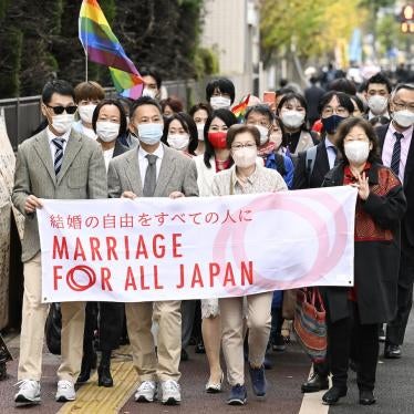
<svg viewBox="0 0 414 414"><path fill-rule="evenodd" d="M323 186L343 185L344 164L331 169ZM362 324L394 319L400 268L400 220L406 201L391 169L374 163L369 172L370 196L358 200L355 216L354 283ZM366 214L366 215L365 215ZM366 226L368 217L371 226ZM360 220L360 221L359 221ZM361 226L365 224L365 226ZM374 226L374 230L373 227ZM332 322L349 317L349 288L320 288Z"/></svg>

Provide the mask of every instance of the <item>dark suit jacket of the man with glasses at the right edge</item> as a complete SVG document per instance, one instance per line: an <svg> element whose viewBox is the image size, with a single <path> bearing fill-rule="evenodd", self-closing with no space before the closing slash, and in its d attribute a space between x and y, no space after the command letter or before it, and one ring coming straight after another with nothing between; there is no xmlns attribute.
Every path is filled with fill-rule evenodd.
<svg viewBox="0 0 414 414"><path fill-rule="evenodd" d="M381 154L389 126L390 124L381 125L375 130L379 137ZM407 162L405 165L403 188L407 200L407 210L402 220L401 247L406 256L412 258L412 263L414 266L414 133L411 138ZM414 271L412 271L412 273L414 273Z"/></svg>

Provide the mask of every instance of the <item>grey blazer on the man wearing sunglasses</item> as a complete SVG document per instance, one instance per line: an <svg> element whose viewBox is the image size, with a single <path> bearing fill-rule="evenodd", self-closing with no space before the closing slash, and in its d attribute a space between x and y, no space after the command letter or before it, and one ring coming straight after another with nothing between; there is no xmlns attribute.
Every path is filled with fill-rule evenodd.
<svg viewBox="0 0 414 414"><path fill-rule="evenodd" d="M58 178L45 130L19 145L11 200L25 216L23 262L33 258L40 250L37 215L27 215L24 211L28 196L50 199L106 198L105 177L101 146L74 131L68 139Z"/></svg>

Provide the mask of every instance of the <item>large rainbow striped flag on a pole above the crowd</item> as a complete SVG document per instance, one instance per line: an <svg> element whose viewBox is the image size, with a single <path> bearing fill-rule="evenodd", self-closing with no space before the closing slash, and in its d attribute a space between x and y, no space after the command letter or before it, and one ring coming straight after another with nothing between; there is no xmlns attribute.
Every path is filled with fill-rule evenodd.
<svg viewBox="0 0 414 414"><path fill-rule="evenodd" d="M112 31L96 0L83 0L79 14L79 39L90 61L110 68L121 95L138 99L143 80Z"/></svg>

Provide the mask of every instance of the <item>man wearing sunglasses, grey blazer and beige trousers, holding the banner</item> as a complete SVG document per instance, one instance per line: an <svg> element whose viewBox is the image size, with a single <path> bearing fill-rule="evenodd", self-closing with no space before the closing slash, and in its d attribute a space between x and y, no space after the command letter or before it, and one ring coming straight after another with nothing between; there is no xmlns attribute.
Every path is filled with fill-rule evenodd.
<svg viewBox="0 0 414 414"><path fill-rule="evenodd" d="M18 369L18 404L40 403L42 346L48 303L41 301L42 267L37 209L42 199L106 198L106 172L100 145L71 130L76 105L65 81L48 82L42 113L48 127L24 141L18 151L12 201L25 216L22 240L24 294ZM74 383L81 371L83 302L63 302L62 361L58 370L56 401L75 400Z"/></svg>

